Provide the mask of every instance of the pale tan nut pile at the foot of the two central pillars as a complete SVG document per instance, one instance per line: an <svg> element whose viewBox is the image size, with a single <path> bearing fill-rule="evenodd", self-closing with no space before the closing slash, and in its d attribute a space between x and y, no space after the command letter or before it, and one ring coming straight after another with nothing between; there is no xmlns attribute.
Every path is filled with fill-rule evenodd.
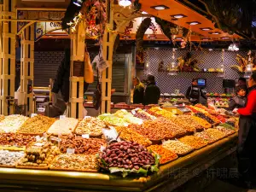
<svg viewBox="0 0 256 192"><path fill-rule="evenodd" d="M89 134L90 136L100 136L102 135L102 129L105 127L106 125L101 119L88 117L79 122L75 133L78 135Z"/></svg>

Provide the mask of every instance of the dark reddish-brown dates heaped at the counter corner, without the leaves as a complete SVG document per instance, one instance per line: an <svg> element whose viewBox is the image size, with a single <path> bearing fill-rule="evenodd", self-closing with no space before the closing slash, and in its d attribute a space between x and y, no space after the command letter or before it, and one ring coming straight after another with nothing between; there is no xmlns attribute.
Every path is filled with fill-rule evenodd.
<svg viewBox="0 0 256 192"><path fill-rule="evenodd" d="M136 169L154 165L154 156L147 148L133 142L112 143L105 148L100 158L107 163L107 167L119 167L125 169Z"/></svg>

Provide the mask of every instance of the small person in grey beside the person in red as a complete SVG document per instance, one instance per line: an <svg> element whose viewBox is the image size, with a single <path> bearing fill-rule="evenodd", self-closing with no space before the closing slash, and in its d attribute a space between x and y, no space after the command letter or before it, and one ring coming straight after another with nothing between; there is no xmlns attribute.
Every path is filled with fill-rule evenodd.
<svg viewBox="0 0 256 192"><path fill-rule="evenodd" d="M234 96L229 103L229 111L233 111L235 108L244 108L246 103L247 90L244 86L239 85L236 87L236 96Z"/></svg>

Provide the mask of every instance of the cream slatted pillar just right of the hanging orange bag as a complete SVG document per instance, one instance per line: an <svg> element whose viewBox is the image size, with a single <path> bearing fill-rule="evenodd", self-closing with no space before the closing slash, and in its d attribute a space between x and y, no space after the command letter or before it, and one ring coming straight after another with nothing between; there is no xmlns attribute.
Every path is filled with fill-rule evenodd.
<svg viewBox="0 0 256 192"><path fill-rule="evenodd" d="M108 24L103 36L102 49L103 56L108 61L109 67L102 72L102 113L110 113L111 110L111 87L112 87L112 64L113 64L113 44L116 35L108 32L113 29L113 3L107 1Z"/></svg>

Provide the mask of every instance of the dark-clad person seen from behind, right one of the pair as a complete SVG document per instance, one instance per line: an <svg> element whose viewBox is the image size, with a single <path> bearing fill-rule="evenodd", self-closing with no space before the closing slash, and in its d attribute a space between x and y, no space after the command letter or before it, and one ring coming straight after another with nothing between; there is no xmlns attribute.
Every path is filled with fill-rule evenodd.
<svg viewBox="0 0 256 192"><path fill-rule="evenodd" d="M155 84L154 76L148 76L148 84L145 90L144 105L158 104L160 100L160 89Z"/></svg>

